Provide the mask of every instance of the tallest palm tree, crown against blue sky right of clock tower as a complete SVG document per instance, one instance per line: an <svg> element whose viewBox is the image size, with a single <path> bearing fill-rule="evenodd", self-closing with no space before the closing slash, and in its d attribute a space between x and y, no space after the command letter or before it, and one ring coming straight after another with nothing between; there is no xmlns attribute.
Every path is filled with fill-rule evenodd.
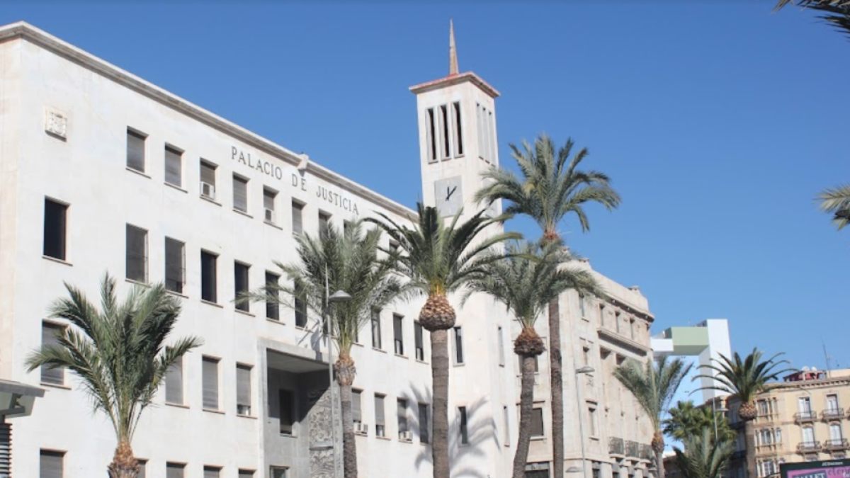
<svg viewBox="0 0 850 478"><path fill-rule="evenodd" d="M590 229L584 206L598 202L609 210L620 204L620 195L609 185L610 179L598 171L577 169L587 158L581 148L570 159L575 143L567 139L558 149L547 134L541 134L532 148L523 141L523 149L510 145L522 178L502 168L482 174L489 182L475 194L476 201L507 199L506 213L529 216L543 231L543 242L562 242L558 225L567 214L575 213L581 230ZM564 379L561 366L561 325L558 298L549 302L549 370L552 388L553 476L564 476Z"/></svg>

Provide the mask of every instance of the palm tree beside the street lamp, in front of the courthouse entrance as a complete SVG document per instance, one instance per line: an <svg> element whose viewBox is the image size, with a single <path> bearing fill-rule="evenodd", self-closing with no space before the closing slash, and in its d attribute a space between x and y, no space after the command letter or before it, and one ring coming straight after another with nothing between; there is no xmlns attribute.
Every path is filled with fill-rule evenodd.
<svg viewBox="0 0 850 478"><path fill-rule="evenodd" d="M340 232L334 225L323 228L319 236L297 237L298 261L275 262L291 285L269 283L241 296L237 301L253 300L283 304L294 308L289 298L307 304L318 316L329 317L330 335L339 350L334 363L343 422L343 470L346 478L357 477L357 446L354 439L354 416L351 413L354 376L357 369L351 358L351 346L360 328L371 320L373 310L384 306L403 293L404 286L394 276L394 264L378 258L381 230L363 231L362 221L354 221ZM326 292L342 290L350 300L327 305ZM330 346L330 345L329 345Z"/></svg>

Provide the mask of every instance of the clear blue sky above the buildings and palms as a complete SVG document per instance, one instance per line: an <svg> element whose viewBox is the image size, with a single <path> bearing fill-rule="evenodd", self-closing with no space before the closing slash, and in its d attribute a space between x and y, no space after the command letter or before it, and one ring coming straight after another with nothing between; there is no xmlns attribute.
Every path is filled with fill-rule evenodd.
<svg viewBox="0 0 850 478"><path fill-rule="evenodd" d="M462 71L501 91L507 144L587 146L623 196L563 226L639 285L654 332L727 317L733 345L850 367L850 230L813 196L850 182L850 42L811 12L726 2L8 3L26 20L396 201L420 191L416 102ZM515 222L527 236L534 227Z"/></svg>

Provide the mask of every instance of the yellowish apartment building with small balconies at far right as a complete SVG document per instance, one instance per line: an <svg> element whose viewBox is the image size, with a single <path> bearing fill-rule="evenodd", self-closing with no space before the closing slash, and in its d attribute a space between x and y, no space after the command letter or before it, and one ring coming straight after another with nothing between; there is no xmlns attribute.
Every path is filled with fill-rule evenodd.
<svg viewBox="0 0 850 478"><path fill-rule="evenodd" d="M757 478L779 475L779 464L847 458L850 369L808 369L791 373L757 396ZM728 400L729 423L739 430L730 478L745 478L744 424L740 402Z"/></svg>

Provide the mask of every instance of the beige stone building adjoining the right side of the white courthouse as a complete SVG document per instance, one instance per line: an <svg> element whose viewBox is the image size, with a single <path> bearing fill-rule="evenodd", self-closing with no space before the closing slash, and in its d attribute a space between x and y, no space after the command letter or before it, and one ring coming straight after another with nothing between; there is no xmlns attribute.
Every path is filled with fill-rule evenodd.
<svg viewBox="0 0 850 478"><path fill-rule="evenodd" d="M593 271L587 260L583 262L584 267L591 270L602 284L608 297L582 298L575 291L561 295L564 468L581 469L580 428L583 428L588 478L644 478L653 475L650 472L653 454L649 447L652 425L632 393L614 378L614 370L628 358L644 363L652 360L649 327L655 318L638 287L624 287ZM514 334L519 333L518 327L514 326ZM537 321L536 328L548 344L546 316ZM587 366L593 368L592 373L575 373ZM536 427L529 452L529 476L547 476L544 470L552 460L551 430L548 430L552 422L547 353L538 358L538 370L535 381ZM582 420L581 427L579 419ZM577 474L568 474L568 477L581 477L581 473L574 473Z"/></svg>

